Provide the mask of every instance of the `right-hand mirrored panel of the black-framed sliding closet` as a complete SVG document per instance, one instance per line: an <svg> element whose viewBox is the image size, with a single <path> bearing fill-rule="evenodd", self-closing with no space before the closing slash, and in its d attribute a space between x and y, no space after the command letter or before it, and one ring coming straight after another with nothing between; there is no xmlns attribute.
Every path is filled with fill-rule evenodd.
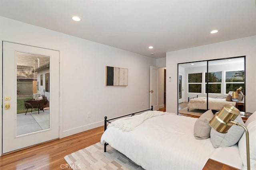
<svg viewBox="0 0 256 170"><path fill-rule="evenodd" d="M228 104L236 106L244 113L244 70L244 57L208 62L206 93L208 92L209 109L218 111L224 104ZM233 96L233 92L236 93L237 89L239 89L238 96Z"/></svg>

